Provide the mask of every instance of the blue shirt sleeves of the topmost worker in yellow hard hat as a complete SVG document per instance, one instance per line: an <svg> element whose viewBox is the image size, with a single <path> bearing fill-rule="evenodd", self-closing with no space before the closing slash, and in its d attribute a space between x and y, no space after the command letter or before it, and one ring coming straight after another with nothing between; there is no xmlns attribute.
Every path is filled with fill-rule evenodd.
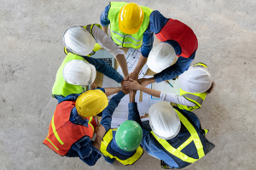
<svg viewBox="0 0 256 170"><path fill-rule="evenodd" d="M102 26L108 26L110 24L110 20L108 20L108 11L109 11L110 5L108 5L102 12L101 15L101 25ZM153 11L154 12L154 11ZM149 23L151 20L149 20ZM150 25L148 24L148 28L143 33L143 44L142 44L142 55L143 57L148 57L148 54L150 50L153 48L153 42L154 42L154 32L150 30Z"/></svg>

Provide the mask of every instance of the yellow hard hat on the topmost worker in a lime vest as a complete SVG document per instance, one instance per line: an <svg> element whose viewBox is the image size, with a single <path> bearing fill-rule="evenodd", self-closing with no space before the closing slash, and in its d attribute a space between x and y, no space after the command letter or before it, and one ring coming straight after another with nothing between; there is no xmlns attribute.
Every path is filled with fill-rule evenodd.
<svg viewBox="0 0 256 170"><path fill-rule="evenodd" d="M128 3L119 11L119 30L125 34L135 34L143 24L143 9L136 3Z"/></svg>

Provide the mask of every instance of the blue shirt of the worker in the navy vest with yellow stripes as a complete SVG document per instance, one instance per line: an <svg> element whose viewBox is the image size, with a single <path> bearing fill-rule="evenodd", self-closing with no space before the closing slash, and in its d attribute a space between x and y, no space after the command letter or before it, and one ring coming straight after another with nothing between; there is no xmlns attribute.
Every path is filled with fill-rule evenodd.
<svg viewBox="0 0 256 170"><path fill-rule="evenodd" d="M200 121L197 116L191 111L183 111L183 114L189 116L192 122L195 123L195 126L200 128ZM143 129L143 140L142 140L142 145L145 150L148 151L148 154L150 156L154 156L160 160L163 160L172 168L177 168L178 165L176 161L172 159L171 156L166 154L164 150L162 150L159 146L159 144L156 144L154 142L154 139L151 138L149 135L151 130L151 127L149 125L148 121L142 122L139 116L139 112L137 111L137 103L130 103L129 104L129 116L132 118L134 121L139 123Z"/></svg>

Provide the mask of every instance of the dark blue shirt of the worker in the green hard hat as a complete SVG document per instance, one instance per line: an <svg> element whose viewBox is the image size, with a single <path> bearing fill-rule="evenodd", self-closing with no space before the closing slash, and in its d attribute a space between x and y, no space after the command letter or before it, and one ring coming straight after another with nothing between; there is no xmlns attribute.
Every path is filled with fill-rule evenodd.
<svg viewBox="0 0 256 170"><path fill-rule="evenodd" d="M119 105L120 100L125 96L125 94L120 91L118 94L116 94L115 96L113 96L113 98L109 101L108 106L106 107L106 109L104 111L102 111L102 121L101 124L103 127L105 127L106 132L108 132L108 130L111 128L111 121L112 121L112 115L113 115L113 111L115 110L115 108ZM128 105L130 108L130 104ZM132 120L132 116L130 116L130 114L128 115L128 120ZM112 131L113 133L113 140L110 143L110 152L113 156L117 156L117 155L122 155L122 156L127 156L130 157L132 156L135 151L131 151L131 152L127 152L125 150L121 150L119 148L119 146L116 144L115 141L115 131ZM114 159L111 159L109 157L104 156L105 160L108 161L109 163L113 163Z"/></svg>

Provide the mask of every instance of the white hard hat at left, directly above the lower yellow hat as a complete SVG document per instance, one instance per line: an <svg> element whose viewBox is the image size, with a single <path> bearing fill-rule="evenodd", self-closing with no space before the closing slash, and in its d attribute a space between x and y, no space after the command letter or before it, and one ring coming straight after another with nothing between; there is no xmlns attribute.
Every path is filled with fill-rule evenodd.
<svg viewBox="0 0 256 170"><path fill-rule="evenodd" d="M70 84L88 86L96 78L96 68L84 60L73 59L63 67L62 75Z"/></svg>

